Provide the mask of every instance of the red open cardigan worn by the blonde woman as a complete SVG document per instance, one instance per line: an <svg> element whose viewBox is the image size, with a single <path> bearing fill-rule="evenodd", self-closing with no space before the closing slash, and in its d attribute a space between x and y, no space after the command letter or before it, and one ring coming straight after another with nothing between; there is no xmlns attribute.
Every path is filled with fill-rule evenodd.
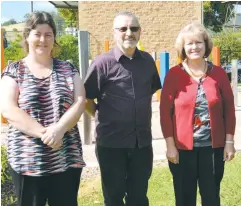
<svg viewBox="0 0 241 206"><path fill-rule="evenodd" d="M218 66L203 81L210 114L212 147L224 147L226 134L235 131L233 92L225 71ZM178 149L193 149L193 121L198 82L177 65L171 68L161 92L160 116L164 138L174 137Z"/></svg>

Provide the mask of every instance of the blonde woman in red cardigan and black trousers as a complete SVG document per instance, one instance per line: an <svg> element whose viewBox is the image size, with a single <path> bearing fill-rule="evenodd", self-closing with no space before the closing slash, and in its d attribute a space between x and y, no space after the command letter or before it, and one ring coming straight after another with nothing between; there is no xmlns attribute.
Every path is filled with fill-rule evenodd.
<svg viewBox="0 0 241 206"><path fill-rule="evenodd" d="M234 158L235 107L225 71L206 61L213 47L199 23L176 39L183 62L167 73L160 116L173 175L176 206L220 206L224 162Z"/></svg>

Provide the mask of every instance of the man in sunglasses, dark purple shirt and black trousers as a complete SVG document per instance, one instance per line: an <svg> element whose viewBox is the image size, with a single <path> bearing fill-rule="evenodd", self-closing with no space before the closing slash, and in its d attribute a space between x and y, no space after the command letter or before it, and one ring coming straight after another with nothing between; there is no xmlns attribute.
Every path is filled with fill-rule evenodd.
<svg viewBox="0 0 241 206"><path fill-rule="evenodd" d="M96 57L85 79L86 108L96 118L104 203L148 206L151 102L161 82L151 55L136 48L141 33L138 18L130 12L117 14L113 31L116 46Z"/></svg>

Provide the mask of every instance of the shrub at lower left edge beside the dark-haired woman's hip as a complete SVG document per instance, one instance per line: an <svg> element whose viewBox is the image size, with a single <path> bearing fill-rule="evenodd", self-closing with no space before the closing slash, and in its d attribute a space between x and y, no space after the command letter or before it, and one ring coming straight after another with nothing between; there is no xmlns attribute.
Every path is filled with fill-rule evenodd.
<svg viewBox="0 0 241 206"><path fill-rule="evenodd" d="M1 146L1 202L2 205L14 205L16 203L16 196L14 194L14 187L12 178L10 176L10 167L7 160L7 148Z"/></svg>

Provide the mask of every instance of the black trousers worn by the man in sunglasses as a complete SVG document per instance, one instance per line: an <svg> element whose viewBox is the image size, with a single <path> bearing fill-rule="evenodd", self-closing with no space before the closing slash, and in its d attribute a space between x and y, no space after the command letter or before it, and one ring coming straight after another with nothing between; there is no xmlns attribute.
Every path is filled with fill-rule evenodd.
<svg viewBox="0 0 241 206"><path fill-rule="evenodd" d="M105 206L148 206L148 180L153 167L152 146L107 148L96 146ZM125 199L125 203L124 203Z"/></svg>

